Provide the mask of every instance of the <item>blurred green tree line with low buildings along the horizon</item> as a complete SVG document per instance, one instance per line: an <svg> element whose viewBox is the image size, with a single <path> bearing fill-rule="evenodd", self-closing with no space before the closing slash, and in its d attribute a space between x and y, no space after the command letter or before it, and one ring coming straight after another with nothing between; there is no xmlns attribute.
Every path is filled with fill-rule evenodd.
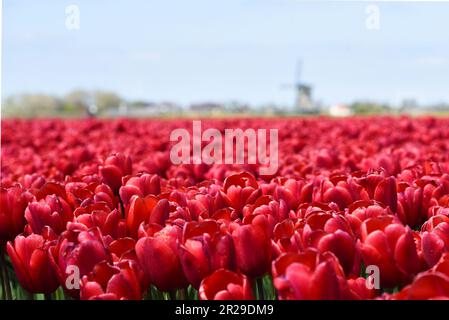
<svg viewBox="0 0 449 320"><path fill-rule="evenodd" d="M379 114L422 114L449 113L448 104L421 106L415 100L407 100L401 106L393 107L386 103L374 101L354 101L342 105L349 115L379 115ZM112 91L106 90L74 90L64 96L48 94L20 94L6 98L2 103L3 117L84 117L84 116L225 116L225 115L255 115L255 116L292 116L298 115L298 110L291 106L274 103L251 106L238 101L228 103L202 102L182 108L172 102L149 102L145 100L125 101ZM316 114L332 115L332 107L321 106Z"/></svg>

